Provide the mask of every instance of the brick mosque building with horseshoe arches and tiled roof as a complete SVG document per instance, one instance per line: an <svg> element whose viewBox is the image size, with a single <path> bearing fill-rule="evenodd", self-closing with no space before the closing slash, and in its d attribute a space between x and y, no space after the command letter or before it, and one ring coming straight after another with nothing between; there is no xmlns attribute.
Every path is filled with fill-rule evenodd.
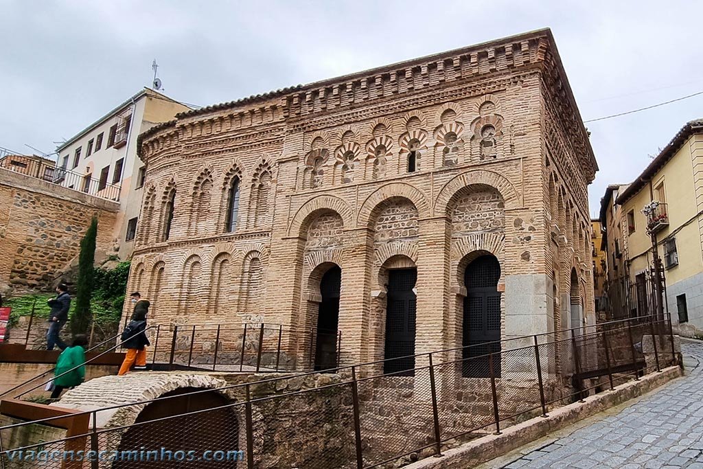
<svg viewBox="0 0 703 469"><path fill-rule="evenodd" d="M550 30L181 113L139 146L128 288L152 324L339 331L353 364L595 322L598 168Z"/></svg>

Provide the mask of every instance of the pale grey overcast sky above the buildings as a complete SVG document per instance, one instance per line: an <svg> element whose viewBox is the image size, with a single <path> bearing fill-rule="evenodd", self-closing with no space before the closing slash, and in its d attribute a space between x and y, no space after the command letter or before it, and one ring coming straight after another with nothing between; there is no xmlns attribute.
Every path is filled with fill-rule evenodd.
<svg viewBox="0 0 703 469"><path fill-rule="evenodd" d="M584 120L703 90L701 1L0 0L0 147L46 153L149 86L209 105L550 27ZM634 179L703 95L586 124Z"/></svg>

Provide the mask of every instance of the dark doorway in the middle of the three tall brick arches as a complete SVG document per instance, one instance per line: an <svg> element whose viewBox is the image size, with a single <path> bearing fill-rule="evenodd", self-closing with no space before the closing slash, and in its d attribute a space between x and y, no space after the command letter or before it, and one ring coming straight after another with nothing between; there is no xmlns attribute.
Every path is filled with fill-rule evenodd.
<svg viewBox="0 0 703 469"><path fill-rule="evenodd" d="M414 289L417 280L418 270L415 268L388 271L384 373L396 373L397 376L415 374L417 298ZM389 360L401 356L405 358Z"/></svg>

